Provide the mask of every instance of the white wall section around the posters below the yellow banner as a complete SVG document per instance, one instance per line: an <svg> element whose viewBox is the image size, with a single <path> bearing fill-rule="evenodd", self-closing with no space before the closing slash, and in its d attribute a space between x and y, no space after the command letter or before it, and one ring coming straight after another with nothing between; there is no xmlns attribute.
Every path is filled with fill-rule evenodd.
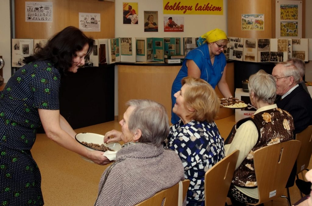
<svg viewBox="0 0 312 206"><path fill-rule="evenodd" d="M223 15L164 15L162 0L136 0L138 25L123 24L123 2L127 1L115 0L115 37L198 37L215 28L227 32L227 0L223 0ZM158 32L144 32L144 11L158 11ZM164 16L184 16L184 32L164 32Z"/></svg>

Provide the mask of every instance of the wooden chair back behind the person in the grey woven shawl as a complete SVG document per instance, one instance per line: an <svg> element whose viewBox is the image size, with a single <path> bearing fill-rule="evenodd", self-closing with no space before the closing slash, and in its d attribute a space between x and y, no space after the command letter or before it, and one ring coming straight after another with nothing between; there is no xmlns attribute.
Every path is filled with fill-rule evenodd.
<svg viewBox="0 0 312 206"><path fill-rule="evenodd" d="M183 198L186 197L188 191L188 186L190 185L190 180L183 180ZM162 190L156 193L153 197L136 204L136 206L161 206L163 199L165 199L163 206L177 206L178 205L178 196L179 196L179 183L173 185L172 187Z"/></svg>

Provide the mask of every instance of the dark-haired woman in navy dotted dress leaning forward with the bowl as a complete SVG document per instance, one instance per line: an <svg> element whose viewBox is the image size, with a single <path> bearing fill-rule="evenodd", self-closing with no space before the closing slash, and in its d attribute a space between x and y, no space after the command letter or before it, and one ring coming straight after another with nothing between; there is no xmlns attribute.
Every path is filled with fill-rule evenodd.
<svg viewBox="0 0 312 206"><path fill-rule="evenodd" d="M25 65L1 91L1 205L44 204L40 171L30 152L41 124L46 135L61 146L97 164L109 163L103 152L91 152L75 141L75 131L59 111L61 76L76 73L92 47L93 39L75 27L66 27L36 54L25 57Z"/></svg>

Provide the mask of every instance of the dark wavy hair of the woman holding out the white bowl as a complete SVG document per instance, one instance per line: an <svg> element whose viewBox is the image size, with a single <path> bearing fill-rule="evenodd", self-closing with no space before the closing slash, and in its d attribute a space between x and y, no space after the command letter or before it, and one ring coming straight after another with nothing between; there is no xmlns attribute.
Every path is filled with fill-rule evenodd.
<svg viewBox="0 0 312 206"><path fill-rule="evenodd" d="M52 36L47 44L41 48L37 45L34 55L25 57L23 62L30 63L36 60L49 60L59 70L61 74L68 73L72 66L72 59L76 57L76 52L81 51L85 44L89 44L86 56L93 50L94 40L87 37L80 29L68 26Z"/></svg>

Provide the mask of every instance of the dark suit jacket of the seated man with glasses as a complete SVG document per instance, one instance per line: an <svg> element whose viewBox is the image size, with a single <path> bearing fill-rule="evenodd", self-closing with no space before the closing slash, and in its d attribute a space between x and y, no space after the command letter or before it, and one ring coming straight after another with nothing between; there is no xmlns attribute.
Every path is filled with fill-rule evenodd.
<svg viewBox="0 0 312 206"><path fill-rule="evenodd" d="M295 134L302 132L305 128L312 124L312 99L299 84L284 99L276 101L277 107L288 111L294 118Z"/></svg>

